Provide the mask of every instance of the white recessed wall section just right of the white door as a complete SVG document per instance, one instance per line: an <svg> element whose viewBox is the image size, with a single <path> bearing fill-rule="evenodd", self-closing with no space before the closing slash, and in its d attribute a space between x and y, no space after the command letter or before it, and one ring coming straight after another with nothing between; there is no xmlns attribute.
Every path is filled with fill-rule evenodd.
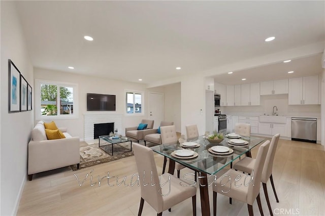
<svg viewBox="0 0 325 216"><path fill-rule="evenodd" d="M181 133L181 83L166 85L165 120L173 121L176 131Z"/></svg>

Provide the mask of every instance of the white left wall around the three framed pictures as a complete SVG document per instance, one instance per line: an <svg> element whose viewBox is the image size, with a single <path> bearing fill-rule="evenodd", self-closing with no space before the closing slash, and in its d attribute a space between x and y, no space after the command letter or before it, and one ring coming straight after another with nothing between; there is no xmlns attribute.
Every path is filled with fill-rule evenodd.
<svg viewBox="0 0 325 216"><path fill-rule="evenodd" d="M22 27L13 1L1 1L1 215L15 215L27 177L33 112L8 113L8 59L34 87Z"/></svg>

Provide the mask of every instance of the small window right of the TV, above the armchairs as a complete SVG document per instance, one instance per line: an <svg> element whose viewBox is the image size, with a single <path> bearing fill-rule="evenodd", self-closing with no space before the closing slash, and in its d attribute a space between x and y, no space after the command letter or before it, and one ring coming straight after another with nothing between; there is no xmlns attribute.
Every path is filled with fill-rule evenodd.
<svg viewBox="0 0 325 216"><path fill-rule="evenodd" d="M126 113L143 114L143 93L126 91Z"/></svg>

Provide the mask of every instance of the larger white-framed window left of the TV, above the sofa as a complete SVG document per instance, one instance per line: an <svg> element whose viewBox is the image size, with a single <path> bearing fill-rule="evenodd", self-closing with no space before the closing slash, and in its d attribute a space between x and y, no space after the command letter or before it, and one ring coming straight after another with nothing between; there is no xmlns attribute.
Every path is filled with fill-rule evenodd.
<svg viewBox="0 0 325 216"><path fill-rule="evenodd" d="M78 85L36 80L35 107L37 119L77 118Z"/></svg>

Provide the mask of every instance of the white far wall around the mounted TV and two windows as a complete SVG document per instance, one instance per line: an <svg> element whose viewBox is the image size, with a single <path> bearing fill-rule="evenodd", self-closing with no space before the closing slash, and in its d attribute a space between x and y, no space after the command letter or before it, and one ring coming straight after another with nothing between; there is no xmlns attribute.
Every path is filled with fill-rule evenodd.
<svg viewBox="0 0 325 216"><path fill-rule="evenodd" d="M141 122L141 119L148 117L149 107L149 92L164 93L163 88L146 89L145 84L112 80L108 78L100 78L95 76L86 76L74 73L61 71L53 71L42 68L34 69L35 79L44 79L51 81L61 81L77 83L79 88L79 118L77 119L54 119L57 126L68 127L68 132L72 136L77 136L80 139L84 138L84 113L114 113L122 114L122 132L125 133L125 127L136 126ZM143 91L145 97L144 115L141 116L125 116L125 90ZM94 112L87 111L86 95L87 93L109 94L116 95L116 111ZM36 110L36 108L35 108ZM35 119L35 123L38 120ZM48 121L48 120L46 120ZM50 121L50 119L49 119Z"/></svg>

